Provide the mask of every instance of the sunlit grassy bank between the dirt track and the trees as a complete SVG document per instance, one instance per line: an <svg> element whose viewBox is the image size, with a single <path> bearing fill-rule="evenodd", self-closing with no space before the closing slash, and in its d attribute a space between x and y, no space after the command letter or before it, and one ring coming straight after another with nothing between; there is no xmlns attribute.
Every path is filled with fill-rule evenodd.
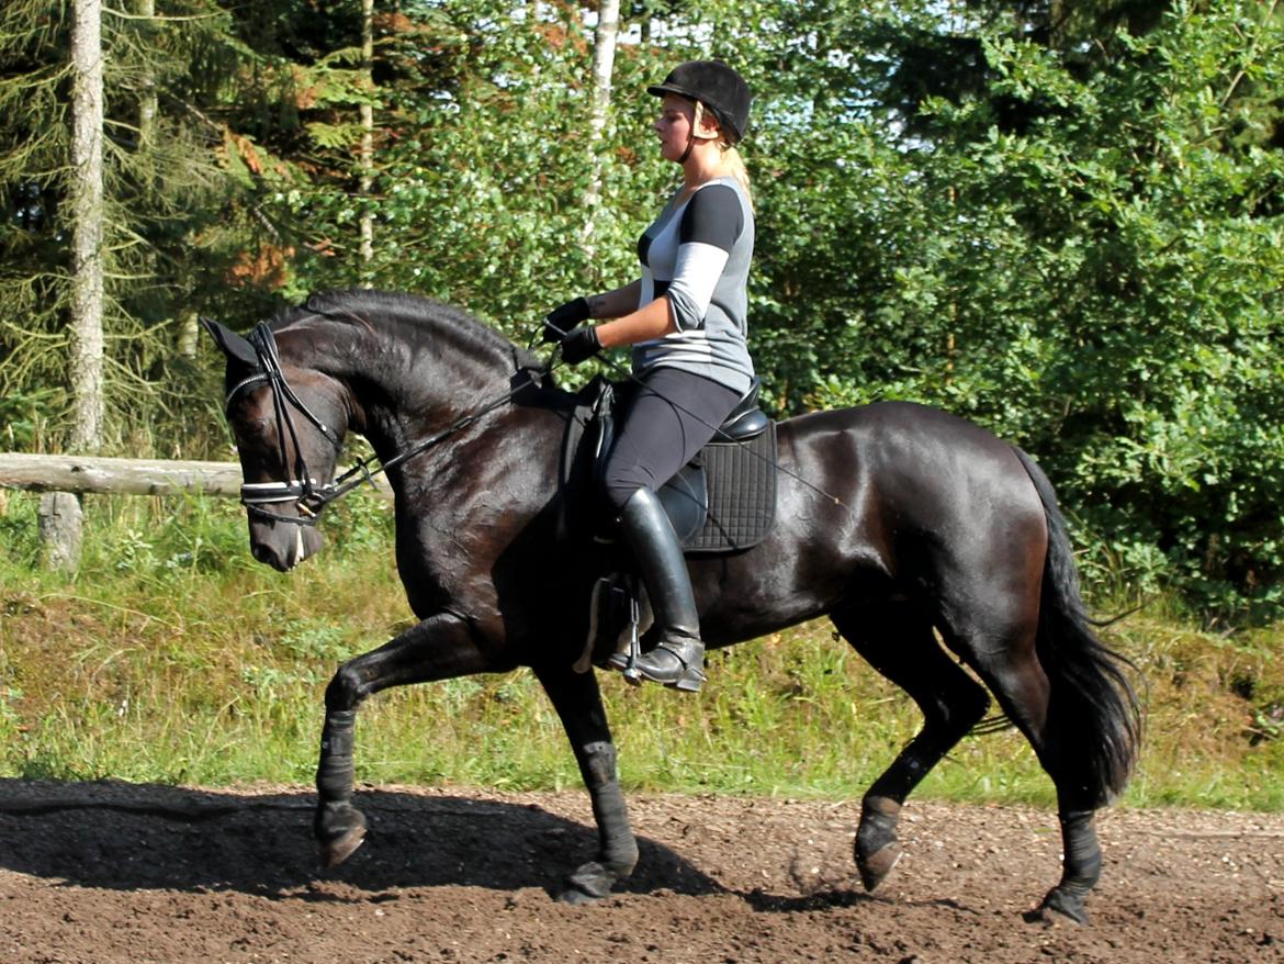
<svg viewBox="0 0 1284 964"><path fill-rule="evenodd" d="M36 564L35 499L0 515L0 776L311 783L322 693L410 625L386 506L336 506L327 549L253 563L241 510L87 505L76 577ZM1109 608L1109 607L1107 607ZM1284 625L1212 634L1148 607L1106 632L1145 674L1145 752L1125 803L1284 810ZM630 789L859 797L918 727L908 697L827 622L715 653L692 698L600 676ZM357 725L367 783L578 787L561 726L519 671L380 694ZM962 743L922 797L1052 805L1013 731Z"/></svg>

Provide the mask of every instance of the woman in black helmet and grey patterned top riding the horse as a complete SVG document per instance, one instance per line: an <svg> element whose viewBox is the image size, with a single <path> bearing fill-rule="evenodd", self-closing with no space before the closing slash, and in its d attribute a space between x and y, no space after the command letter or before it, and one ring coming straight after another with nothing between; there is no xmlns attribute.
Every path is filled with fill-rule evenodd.
<svg viewBox="0 0 1284 964"><path fill-rule="evenodd" d="M638 240L642 276L550 312L544 339L579 364L632 346L639 383L605 470L651 599L660 641L636 666L655 683L696 692L705 647L687 562L656 492L713 438L754 380L746 346L754 253L749 175L736 152L749 121L745 80L719 60L691 60L663 84L655 132L682 186ZM584 321L601 321L586 324Z"/></svg>

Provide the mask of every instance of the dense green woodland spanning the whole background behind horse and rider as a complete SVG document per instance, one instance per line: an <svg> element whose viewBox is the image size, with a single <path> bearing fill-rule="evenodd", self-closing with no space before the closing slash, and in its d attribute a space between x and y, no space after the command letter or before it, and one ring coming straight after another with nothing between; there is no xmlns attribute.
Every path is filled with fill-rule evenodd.
<svg viewBox="0 0 1284 964"><path fill-rule="evenodd" d="M121 449L226 441L218 360L185 353L196 311L244 328L372 284L526 343L552 305L629 280L677 174L645 87L715 55L758 95L751 338L772 409L950 409L1040 459L1090 564L1135 596L1281 611L1274 6L634 5L596 143L584 8L380 0L367 66L357 4L163 6L105 33ZM63 428L64 17L0 14L0 422L19 449Z"/></svg>

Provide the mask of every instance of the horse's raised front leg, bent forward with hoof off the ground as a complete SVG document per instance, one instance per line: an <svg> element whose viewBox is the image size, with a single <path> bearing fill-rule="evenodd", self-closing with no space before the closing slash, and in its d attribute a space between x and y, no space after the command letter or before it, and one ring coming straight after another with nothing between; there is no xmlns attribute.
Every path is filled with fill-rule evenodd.
<svg viewBox="0 0 1284 964"><path fill-rule="evenodd" d="M466 676L489 668L467 625L438 613L339 667L325 692L325 727L317 763L313 821L321 862L342 864L366 837L366 817L352 806L352 744L357 707L371 693L411 683Z"/></svg>

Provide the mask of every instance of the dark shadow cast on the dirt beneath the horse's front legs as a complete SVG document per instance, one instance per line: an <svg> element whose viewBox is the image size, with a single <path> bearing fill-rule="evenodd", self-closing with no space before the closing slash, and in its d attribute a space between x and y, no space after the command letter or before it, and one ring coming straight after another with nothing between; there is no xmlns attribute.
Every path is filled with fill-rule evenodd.
<svg viewBox="0 0 1284 964"><path fill-rule="evenodd" d="M344 865L324 870L309 793L0 780L0 868L78 887L370 900L398 887L555 893L597 850L594 828L534 805L390 790L357 793L353 802L370 835ZM621 892L725 892L668 847L646 839L638 847Z"/></svg>

